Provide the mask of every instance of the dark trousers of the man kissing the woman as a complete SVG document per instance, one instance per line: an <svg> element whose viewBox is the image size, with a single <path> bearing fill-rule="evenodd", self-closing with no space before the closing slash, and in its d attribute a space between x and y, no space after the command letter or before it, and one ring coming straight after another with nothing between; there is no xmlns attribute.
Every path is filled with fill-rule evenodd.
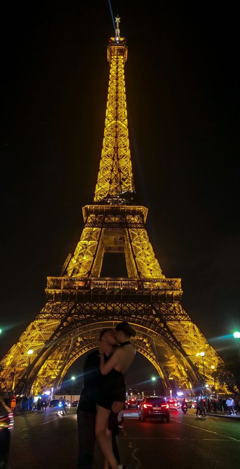
<svg viewBox="0 0 240 469"><path fill-rule="evenodd" d="M78 410L76 415L78 428L77 469L92 469L95 446L95 414ZM117 463L120 464L115 435L112 435L112 450Z"/></svg>

